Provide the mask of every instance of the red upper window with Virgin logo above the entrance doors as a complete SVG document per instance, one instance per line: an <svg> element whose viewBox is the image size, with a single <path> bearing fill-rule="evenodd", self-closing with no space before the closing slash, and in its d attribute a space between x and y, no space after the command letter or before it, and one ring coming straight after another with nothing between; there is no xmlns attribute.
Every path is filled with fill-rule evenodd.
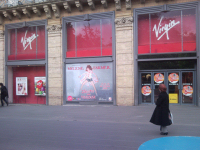
<svg viewBox="0 0 200 150"><path fill-rule="evenodd" d="M195 9L138 16L138 54L196 51Z"/></svg>

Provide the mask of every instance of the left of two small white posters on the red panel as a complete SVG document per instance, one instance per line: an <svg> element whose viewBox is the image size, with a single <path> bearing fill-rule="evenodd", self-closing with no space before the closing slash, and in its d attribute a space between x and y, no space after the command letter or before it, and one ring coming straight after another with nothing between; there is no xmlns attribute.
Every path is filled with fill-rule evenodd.
<svg viewBox="0 0 200 150"><path fill-rule="evenodd" d="M27 77L16 77L16 95L28 95Z"/></svg>

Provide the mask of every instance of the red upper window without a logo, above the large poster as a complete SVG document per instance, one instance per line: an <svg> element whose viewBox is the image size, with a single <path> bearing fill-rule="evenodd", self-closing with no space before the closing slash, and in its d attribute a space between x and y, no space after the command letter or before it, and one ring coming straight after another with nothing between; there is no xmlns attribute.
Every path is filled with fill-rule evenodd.
<svg viewBox="0 0 200 150"><path fill-rule="evenodd" d="M111 19L68 22L66 57L112 55Z"/></svg>

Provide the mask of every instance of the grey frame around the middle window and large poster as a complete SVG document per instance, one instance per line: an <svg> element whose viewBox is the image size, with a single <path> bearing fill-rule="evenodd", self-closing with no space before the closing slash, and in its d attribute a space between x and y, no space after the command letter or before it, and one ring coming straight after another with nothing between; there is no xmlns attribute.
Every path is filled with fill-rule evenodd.
<svg viewBox="0 0 200 150"><path fill-rule="evenodd" d="M94 57L66 57L67 52L67 31L66 24L67 22L78 22L84 20L97 20L97 19L111 19L112 23L112 55L110 56L94 56ZM78 64L78 63L103 63L103 62L112 62L113 65L113 104L116 105L116 52L115 52L115 12L104 12L104 13L94 13L94 14L85 14L78 16L70 16L62 18L62 48L63 48L63 104L66 104L66 64ZM100 103L100 102L99 102ZM109 102L108 102L109 103Z"/></svg>

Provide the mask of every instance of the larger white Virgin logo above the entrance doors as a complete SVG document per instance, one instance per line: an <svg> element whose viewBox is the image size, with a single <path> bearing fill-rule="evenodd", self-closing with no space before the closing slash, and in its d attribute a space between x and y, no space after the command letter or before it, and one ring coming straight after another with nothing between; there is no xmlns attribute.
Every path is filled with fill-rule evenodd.
<svg viewBox="0 0 200 150"><path fill-rule="evenodd" d="M175 22L175 20L170 20L168 24L165 24L162 26L161 23L162 23L163 18L164 16L161 17L158 27L156 26L156 24L153 27L153 31L155 31L157 40L160 40L165 34L166 34L167 40L169 40L169 34L168 34L169 30L180 23L180 21Z"/></svg>

